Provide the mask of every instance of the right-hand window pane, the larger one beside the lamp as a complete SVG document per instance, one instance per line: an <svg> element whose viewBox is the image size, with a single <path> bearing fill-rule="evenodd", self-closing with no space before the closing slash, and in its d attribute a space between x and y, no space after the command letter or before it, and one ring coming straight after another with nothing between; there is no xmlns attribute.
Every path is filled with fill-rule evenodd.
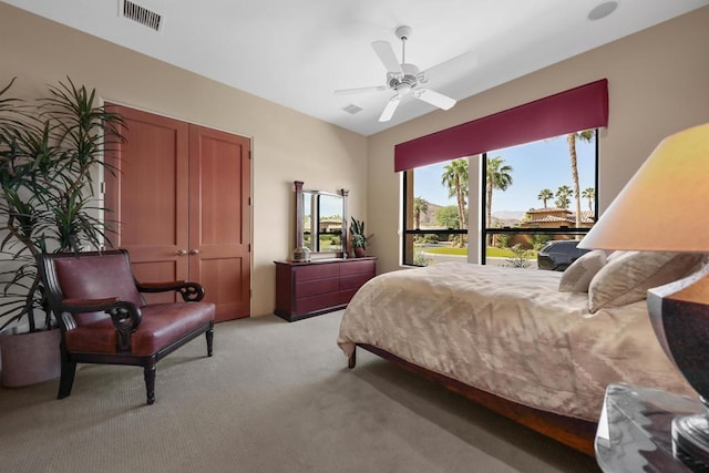
<svg viewBox="0 0 709 473"><path fill-rule="evenodd" d="M547 241L588 233L597 219L597 150L598 133L587 130L485 153L482 263L536 268Z"/></svg>

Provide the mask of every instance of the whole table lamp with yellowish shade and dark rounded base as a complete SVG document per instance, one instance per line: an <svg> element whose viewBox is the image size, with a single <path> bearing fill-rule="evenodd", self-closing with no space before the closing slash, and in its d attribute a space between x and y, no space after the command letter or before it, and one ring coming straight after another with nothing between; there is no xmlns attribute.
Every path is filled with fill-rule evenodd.
<svg viewBox="0 0 709 473"><path fill-rule="evenodd" d="M665 138L579 247L709 253L709 123ZM709 265L648 290L662 349L709 408ZM672 420L677 456L709 467L707 413Z"/></svg>

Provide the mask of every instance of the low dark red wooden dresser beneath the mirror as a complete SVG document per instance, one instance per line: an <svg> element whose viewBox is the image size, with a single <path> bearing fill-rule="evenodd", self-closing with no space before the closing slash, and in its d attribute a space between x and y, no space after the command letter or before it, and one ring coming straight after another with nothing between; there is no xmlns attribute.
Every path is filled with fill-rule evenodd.
<svg viewBox="0 0 709 473"><path fill-rule="evenodd" d="M276 264L276 313L290 322L348 305L377 274L377 258L323 259Z"/></svg>

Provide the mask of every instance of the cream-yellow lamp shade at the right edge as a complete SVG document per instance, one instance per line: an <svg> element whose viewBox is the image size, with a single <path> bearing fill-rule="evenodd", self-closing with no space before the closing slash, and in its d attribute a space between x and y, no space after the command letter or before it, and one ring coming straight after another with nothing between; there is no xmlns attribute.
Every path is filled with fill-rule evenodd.
<svg viewBox="0 0 709 473"><path fill-rule="evenodd" d="M582 248L709 251L709 123L657 146Z"/></svg>

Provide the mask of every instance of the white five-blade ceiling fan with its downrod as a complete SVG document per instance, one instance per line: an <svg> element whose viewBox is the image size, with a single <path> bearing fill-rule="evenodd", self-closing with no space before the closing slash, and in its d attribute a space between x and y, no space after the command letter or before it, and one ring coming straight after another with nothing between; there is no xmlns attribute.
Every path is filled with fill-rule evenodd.
<svg viewBox="0 0 709 473"><path fill-rule="evenodd" d="M422 84L428 82L427 71L420 71L414 64L407 63L407 40L411 35L411 27L399 27L395 32L397 37L401 40L401 63L397 60L394 50L388 41L374 41L372 49L379 56L387 69L387 83L386 85L374 85L369 88L358 89L341 89L335 91L336 94L349 94L360 92L381 92L391 90L394 92L387 105L384 106L380 122L388 122L393 116L401 100L411 94L415 99L430 103L442 110L450 110L455 105L455 100L450 96L443 95L431 89L421 88ZM441 64L439 64L441 65ZM430 71L430 69L429 69Z"/></svg>

